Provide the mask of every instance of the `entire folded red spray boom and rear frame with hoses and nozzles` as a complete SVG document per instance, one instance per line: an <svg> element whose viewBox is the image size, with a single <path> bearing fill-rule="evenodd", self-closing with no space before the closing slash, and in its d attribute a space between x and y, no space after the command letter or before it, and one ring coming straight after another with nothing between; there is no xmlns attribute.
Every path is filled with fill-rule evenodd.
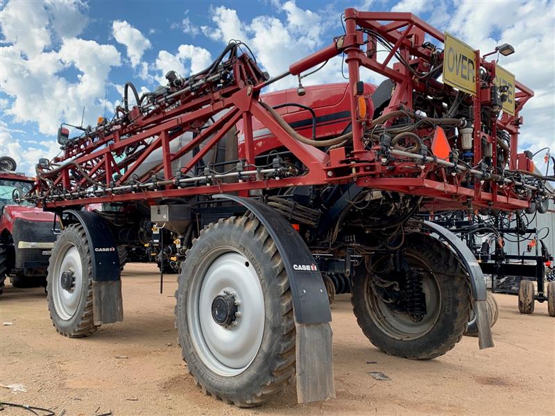
<svg viewBox="0 0 555 416"><path fill-rule="evenodd" d="M531 160L517 154L519 112L533 96L530 89L513 78L513 85L499 83L496 73L502 69L470 47L470 52L461 49L467 51L470 84L441 83L442 73L448 78L452 52L444 50L450 41L443 33L410 13L348 8L344 16L344 35L275 78L240 54L240 42L232 42L204 71L188 78L171 71L167 86L155 92L139 98L135 87L126 85L112 120L71 139L60 129L64 155L37 167L31 198L46 209L60 209L347 182L422 196L435 209L522 209L548 198L546 178L529 175ZM426 35L434 42L426 42ZM379 59L382 48L388 53ZM260 93L284 76L300 76L341 54L349 74L350 132L303 137ZM361 67L393 83L384 105L374 108ZM129 91L136 101L131 108ZM268 155L265 165L257 162L253 117L294 163ZM234 168L223 171L207 162L207 155L238 123L241 136L234 140L241 141L244 154L228 160Z"/></svg>

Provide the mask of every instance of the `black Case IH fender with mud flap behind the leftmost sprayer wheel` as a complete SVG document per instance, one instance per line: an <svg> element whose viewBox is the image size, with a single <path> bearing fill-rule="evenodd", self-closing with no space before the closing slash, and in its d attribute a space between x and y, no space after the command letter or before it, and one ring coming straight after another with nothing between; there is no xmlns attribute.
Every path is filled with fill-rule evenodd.
<svg viewBox="0 0 555 416"><path fill-rule="evenodd" d="M110 227L94 212L67 210L85 229L92 256L92 311L95 325L123 321L116 243Z"/></svg>

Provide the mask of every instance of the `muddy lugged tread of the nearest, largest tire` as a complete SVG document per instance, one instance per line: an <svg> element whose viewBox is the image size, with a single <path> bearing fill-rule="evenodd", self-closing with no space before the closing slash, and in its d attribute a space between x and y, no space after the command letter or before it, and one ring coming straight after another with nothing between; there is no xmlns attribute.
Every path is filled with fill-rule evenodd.
<svg viewBox="0 0 555 416"><path fill-rule="evenodd" d="M268 234L266 228L262 223L256 218L249 218L246 216L242 217L230 217L227 219L221 218L217 223L211 223L207 225L204 229L200 230L199 236L192 241L192 247L194 247L196 241L200 239L205 233L213 232L214 229L222 227L224 224L230 224L235 227L240 227L243 229L243 233L248 233L253 236L253 239L257 241L258 244L262 245L264 252L270 259L273 268L276 271L278 286L282 292L280 298L281 307L281 318L282 323L286 330L282 333L280 340L280 349L278 350L277 359L272 361L272 367L270 369L271 377L268 378L266 383L257 386L255 392L250 395L250 397L238 398L238 397L224 397L219 395L218 392L210 388L210 385L205 385L201 379L198 379L196 375L191 371L191 368L187 366L187 372L193 376L195 385L202 390L205 395L212 396L215 399L221 400L226 404L231 404L239 408L250 408L254 406L259 406L259 404L264 403L271 397L278 395L282 391L285 385L287 385L291 378L294 376L296 371L296 328L293 320L293 298L291 296L291 290L289 288L289 279L287 277L287 272L284 268L284 263L280 253L278 252L273 239ZM187 250L187 254L189 251ZM182 284L183 275L180 273L178 277L179 286ZM176 291L176 300L178 298L178 291ZM176 317L178 314L178 306L175 308ZM176 328L178 327L176 321ZM179 336L178 336L179 338ZM182 347L182 343L178 339L178 344ZM182 347L183 348L183 347ZM184 351L182 349L182 359L187 363Z"/></svg>

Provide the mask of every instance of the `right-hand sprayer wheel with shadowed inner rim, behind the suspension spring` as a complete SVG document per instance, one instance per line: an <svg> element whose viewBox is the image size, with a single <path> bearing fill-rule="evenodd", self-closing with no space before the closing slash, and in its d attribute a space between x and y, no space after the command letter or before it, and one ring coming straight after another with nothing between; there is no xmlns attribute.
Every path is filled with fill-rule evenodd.
<svg viewBox="0 0 555 416"><path fill-rule="evenodd" d="M461 340L470 318L470 283L459 259L440 241L411 234L404 243L404 259L422 272L425 315L411 316L385 302L372 288L373 275L355 272L352 305L364 335L387 354L427 360L452 349ZM372 257L373 270L386 270L391 256Z"/></svg>

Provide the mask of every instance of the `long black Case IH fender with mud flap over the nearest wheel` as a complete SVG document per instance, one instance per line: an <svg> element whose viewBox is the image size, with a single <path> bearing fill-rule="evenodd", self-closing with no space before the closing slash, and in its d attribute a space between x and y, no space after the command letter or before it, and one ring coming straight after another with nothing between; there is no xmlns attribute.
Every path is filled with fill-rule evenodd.
<svg viewBox="0 0 555 416"><path fill-rule="evenodd" d="M266 227L284 261L293 297L297 330L297 400L308 403L335 397L332 312L322 275L298 232L275 209L251 198L215 195L243 205Z"/></svg>

